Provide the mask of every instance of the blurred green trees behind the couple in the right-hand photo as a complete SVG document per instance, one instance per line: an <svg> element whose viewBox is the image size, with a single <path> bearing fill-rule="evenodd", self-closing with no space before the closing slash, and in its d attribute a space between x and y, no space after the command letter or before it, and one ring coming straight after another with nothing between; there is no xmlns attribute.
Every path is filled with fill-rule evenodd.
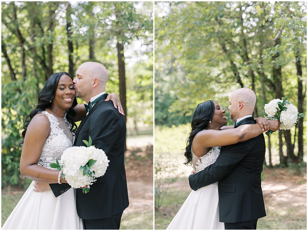
<svg viewBox="0 0 308 231"><path fill-rule="evenodd" d="M197 104L208 99L227 111L230 93L241 87L257 95L254 116L263 117L264 105L285 95L306 113L306 2L155 7L155 125L189 123ZM266 138L267 165L306 158L305 122Z"/></svg>

